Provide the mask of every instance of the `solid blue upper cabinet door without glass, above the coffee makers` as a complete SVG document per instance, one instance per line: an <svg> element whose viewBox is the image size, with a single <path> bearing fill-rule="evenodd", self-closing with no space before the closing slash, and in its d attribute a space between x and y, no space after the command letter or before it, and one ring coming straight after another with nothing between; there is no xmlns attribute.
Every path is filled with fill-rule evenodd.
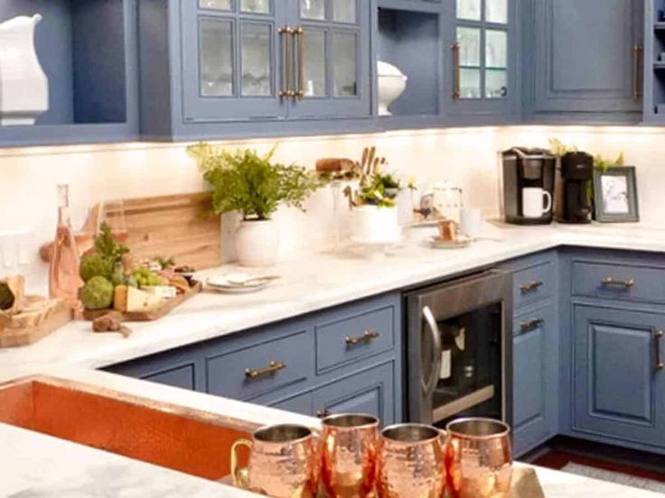
<svg viewBox="0 0 665 498"><path fill-rule="evenodd" d="M529 0L527 120L642 119L643 0Z"/></svg>

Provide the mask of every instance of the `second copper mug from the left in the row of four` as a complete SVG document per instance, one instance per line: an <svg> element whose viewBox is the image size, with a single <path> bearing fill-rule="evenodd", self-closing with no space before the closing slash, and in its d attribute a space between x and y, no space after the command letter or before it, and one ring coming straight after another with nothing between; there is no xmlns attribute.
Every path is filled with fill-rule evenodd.
<svg viewBox="0 0 665 498"><path fill-rule="evenodd" d="M329 498L365 498L374 492L379 420L341 414L323 420L321 484Z"/></svg>

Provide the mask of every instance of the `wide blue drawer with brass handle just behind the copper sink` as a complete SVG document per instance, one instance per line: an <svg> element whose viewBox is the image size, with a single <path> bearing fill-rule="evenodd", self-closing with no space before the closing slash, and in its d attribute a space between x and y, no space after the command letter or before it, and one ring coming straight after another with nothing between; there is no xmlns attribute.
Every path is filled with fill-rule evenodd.
<svg viewBox="0 0 665 498"><path fill-rule="evenodd" d="M314 371L312 336L304 329L262 344L206 358L211 394L247 400L304 381Z"/></svg>

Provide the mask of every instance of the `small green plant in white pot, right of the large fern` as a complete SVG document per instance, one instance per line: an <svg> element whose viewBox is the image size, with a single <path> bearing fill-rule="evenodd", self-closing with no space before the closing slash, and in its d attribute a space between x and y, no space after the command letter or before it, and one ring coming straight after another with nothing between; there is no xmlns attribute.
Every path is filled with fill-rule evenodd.
<svg viewBox="0 0 665 498"><path fill-rule="evenodd" d="M352 197L353 235L359 242L388 244L399 236L396 198L399 180L389 173L373 172L363 177Z"/></svg>

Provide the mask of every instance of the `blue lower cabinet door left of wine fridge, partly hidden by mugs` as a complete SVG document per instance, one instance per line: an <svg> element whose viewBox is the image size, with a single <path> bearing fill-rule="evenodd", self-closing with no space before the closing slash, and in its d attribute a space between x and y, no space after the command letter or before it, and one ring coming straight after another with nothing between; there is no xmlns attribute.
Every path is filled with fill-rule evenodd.
<svg viewBox="0 0 665 498"><path fill-rule="evenodd" d="M353 374L314 391L314 415L368 413L384 426L397 420L395 413L395 366L382 364Z"/></svg>

